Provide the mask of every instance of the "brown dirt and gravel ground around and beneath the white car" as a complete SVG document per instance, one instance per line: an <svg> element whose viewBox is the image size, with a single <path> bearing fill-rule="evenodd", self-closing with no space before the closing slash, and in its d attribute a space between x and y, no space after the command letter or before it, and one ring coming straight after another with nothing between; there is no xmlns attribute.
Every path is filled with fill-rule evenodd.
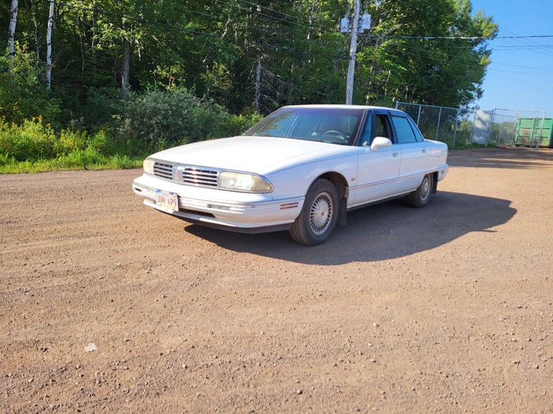
<svg viewBox="0 0 553 414"><path fill-rule="evenodd" d="M449 164L311 248L0 176L0 412L552 413L553 150Z"/></svg>

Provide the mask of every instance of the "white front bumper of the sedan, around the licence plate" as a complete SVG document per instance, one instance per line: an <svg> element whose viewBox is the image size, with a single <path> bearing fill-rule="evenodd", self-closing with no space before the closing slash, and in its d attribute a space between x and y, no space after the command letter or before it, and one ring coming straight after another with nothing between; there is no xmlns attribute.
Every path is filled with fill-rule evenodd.
<svg viewBox="0 0 553 414"><path fill-rule="evenodd" d="M178 195L178 211L156 205L156 190ZM272 199L271 194L250 194L216 188L185 186L144 174L133 181L133 191L144 204L180 219L243 233L287 230L297 218L305 197Z"/></svg>

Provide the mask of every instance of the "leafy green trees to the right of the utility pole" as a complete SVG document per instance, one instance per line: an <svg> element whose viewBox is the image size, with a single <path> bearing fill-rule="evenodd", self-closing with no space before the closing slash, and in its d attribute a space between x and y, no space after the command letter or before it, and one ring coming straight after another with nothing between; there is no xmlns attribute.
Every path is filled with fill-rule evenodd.
<svg viewBox="0 0 553 414"><path fill-rule="evenodd" d="M498 28L491 17L471 13L469 0L388 0L373 6L375 26L358 56L364 101L467 106L478 99L490 55L482 37L493 38ZM454 39L459 37L480 38Z"/></svg>

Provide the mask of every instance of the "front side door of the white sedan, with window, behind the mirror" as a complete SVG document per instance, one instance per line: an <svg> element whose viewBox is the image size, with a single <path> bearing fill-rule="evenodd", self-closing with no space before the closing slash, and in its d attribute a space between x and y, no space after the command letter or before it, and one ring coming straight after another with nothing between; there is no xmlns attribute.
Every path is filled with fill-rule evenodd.
<svg viewBox="0 0 553 414"><path fill-rule="evenodd" d="M395 144L371 150L375 137L391 139L393 131L385 110L367 112L364 128L357 146L358 167L355 185L350 186L348 206L359 206L397 194L397 178L400 172L400 148Z"/></svg>

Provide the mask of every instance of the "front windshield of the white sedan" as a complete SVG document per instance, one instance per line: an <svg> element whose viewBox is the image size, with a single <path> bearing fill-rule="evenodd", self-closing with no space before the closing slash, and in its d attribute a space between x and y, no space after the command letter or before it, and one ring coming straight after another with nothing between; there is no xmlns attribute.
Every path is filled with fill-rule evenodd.
<svg viewBox="0 0 553 414"><path fill-rule="evenodd" d="M351 145L362 115L363 110L358 108L281 108L243 135Z"/></svg>

